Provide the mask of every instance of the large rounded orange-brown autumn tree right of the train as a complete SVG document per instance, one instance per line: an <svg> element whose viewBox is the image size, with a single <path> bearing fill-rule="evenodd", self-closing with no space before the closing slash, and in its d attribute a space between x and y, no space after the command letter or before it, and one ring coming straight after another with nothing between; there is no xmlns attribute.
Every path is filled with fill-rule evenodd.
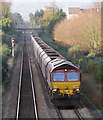
<svg viewBox="0 0 103 120"><path fill-rule="evenodd" d="M77 17L61 21L54 28L54 39L89 54L101 53L100 10L84 10Z"/></svg>

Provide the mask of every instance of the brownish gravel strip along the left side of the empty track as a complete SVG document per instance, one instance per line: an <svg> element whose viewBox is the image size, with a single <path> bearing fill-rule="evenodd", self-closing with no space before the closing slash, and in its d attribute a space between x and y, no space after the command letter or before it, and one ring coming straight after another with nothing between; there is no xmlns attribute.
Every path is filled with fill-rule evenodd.
<svg viewBox="0 0 103 120"><path fill-rule="evenodd" d="M14 64L12 67L11 75L8 78L9 83L6 88L5 94L2 96L2 118L14 118L16 114L16 102L19 84L20 66L22 60L22 41L21 37L18 39L18 49L14 58ZM21 41L21 42L20 42Z"/></svg>

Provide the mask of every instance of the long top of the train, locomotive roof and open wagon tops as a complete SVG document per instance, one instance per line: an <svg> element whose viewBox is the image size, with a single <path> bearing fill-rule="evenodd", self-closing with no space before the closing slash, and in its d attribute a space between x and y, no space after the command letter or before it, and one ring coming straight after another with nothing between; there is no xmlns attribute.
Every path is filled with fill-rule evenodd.
<svg viewBox="0 0 103 120"><path fill-rule="evenodd" d="M53 48L48 46L44 41L42 41L40 38L35 38L36 42L39 44L39 46L42 48L43 55L47 54L47 56L50 58L48 63L49 71L53 71L54 69L67 65L68 67L78 69L77 66L72 64L71 62L67 61L62 55L60 55L57 51L55 51ZM46 61L47 57L45 58Z"/></svg>

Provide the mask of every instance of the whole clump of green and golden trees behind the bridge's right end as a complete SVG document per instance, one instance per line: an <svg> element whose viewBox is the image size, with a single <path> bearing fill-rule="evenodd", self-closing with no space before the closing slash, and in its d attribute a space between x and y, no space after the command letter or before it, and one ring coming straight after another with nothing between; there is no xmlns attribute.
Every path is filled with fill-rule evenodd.
<svg viewBox="0 0 103 120"><path fill-rule="evenodd" d="M45 10L37 10L35 14L29 14L30 22L32 24L40 24L45 27L46 32L52 34L56 23L64 19L66 14L62 9L59 9L55 4L45 6Z"/></svg>

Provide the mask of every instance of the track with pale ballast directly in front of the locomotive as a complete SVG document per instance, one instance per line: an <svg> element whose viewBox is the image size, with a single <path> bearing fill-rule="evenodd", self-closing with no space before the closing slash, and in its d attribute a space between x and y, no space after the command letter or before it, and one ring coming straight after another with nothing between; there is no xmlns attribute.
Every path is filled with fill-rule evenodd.
<svg viewBox="0 0 103 120"><path fill-rule="evenodd" d="M84 94L83 94L84 95ZM95 107L95 105L90 101L90 99L85 96L85 99L89 102L89 104L92 106L92 109L95 110L94 112L87 108L86 106L84 106L83 108L81 109L77 109L77 108L74 108L74 109L56 109L56 113L58 115L58 118L60 120L63 120L63 119L72 119L72 118L76 118L78 120L84 120L84 119L98 119L98 118L102 118L101 117L101 114L100 114L100 111ZM93 117L94 116L94 117Z"/></svg>

